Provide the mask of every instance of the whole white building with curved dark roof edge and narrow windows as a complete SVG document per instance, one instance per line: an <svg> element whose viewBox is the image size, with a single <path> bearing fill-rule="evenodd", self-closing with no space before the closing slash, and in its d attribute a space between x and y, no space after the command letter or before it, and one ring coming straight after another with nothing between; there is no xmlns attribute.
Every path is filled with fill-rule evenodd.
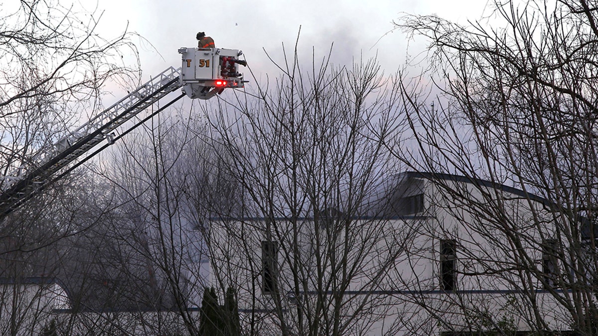
<svg viewBox="0 0 598 336"><path fill-rule="evenodd" d="M211 280L236 288L242 329L525 335L572 328L569 304L579 292L563 284L579 274L563 271L572 240L547 200L412 172L355 209L212 222Z"/></svg>

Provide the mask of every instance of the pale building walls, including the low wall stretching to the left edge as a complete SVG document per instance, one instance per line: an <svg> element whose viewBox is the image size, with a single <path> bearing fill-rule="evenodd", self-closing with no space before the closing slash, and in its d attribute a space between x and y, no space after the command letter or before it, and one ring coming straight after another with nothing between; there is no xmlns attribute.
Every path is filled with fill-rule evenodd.
<svg viewBox="0 0 598 336"><path fill-rule="evenodd" d="M525 331L537 319L547 329L570 328L569 313L557 302L568 289L542 282L543 242L557 237L545 204L458 181L412 179L397 190L389 202L400 215L379 207L361 217L327 210L294 221L213 221L198 243L201 255L189 256L189 307L199 306L203 285L218 289L221 303L232 287L243 331L263 335L280 334L281 323L305 327L308 322L296 325L301 318L337 321L348 335ZM443 241L455 246L452 289L443 285ZM276 291L270 293L264 290L263 242L277 248L269 265ZM347 270L335 269L343 265L343 251ZM66 293L56 286L3 285L0 333L36 335L56 320L74 334L187 334L175 311L71 313ZM199 323L199 311L188 318Z"/></svg>

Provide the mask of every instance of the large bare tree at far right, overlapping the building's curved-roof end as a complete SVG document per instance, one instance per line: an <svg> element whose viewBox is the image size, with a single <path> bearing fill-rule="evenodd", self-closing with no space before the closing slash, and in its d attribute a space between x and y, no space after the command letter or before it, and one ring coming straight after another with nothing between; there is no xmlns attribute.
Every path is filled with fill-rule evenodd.
<svg viewBox="0 0 598 336"><path fill-rule="evenodd" d="M471 258L463 276L493 272L508 283L524 328L596 335L598 10L585 0L492 5L487 19L468 26L437 16L397 23L430 42L425 75L440 94L431 102L420 87L402 86L416 154L396 156L414 170L522 190L526 215L487 186L476 185L483 197L474 202L471 191L435 179L463 205L455 215L464 207L475 214L466 227L483 237L460 246ZM545 313L548 301L559 313ZM475 328L501 330L499 316L454 306L479 317Z"/></svg>

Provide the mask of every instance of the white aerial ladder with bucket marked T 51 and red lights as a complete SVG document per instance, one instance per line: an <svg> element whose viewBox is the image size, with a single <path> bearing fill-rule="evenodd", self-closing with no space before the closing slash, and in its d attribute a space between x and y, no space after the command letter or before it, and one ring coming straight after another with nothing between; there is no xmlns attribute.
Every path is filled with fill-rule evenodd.
<svg viewBox="0 0 598 336"><path fill-rule="evenodd" d="M52 182L67 175L185 95L191 99L210 99L225 88L243 88L246 83L239 73L239 65L246 65L245 61L239 60L242 51L179 48L178 52L182 56L181 68L167 68L57 140L47 150L33 155L28 167L19 167L9 175L0 177L4 180L0 183L0 221ZM179 96L146 117L140 117L141 112L149 106L179 88L182 88ZM137 118L132 120L134 117Z"/></svg>

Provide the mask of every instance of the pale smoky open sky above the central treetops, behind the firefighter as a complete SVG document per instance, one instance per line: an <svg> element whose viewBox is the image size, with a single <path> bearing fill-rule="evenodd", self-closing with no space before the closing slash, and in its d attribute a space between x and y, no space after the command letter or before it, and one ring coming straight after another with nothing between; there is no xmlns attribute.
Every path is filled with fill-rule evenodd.
<svg viewBox="0 0 598 336"><path fill-rule="evenodd" d="M334 43L334 63L348 65L360 54L373 57L377 53L388 74L405 63L408 45L404 33L390 32L393 20L409 13L438 14L463 22L480 17L486 5L484 0L97 1L97 11L103 11L100 32L114 35L128 25L147 39L135 40L141 51L143 80L168 66L181 66L176 50L196 46L198 31L212 36L216 47L243 50L258 77L277 76L264 49L281 60L282 44L292 50L300 27L304 62L310 61L312 47L322 57Z"/></svg>

